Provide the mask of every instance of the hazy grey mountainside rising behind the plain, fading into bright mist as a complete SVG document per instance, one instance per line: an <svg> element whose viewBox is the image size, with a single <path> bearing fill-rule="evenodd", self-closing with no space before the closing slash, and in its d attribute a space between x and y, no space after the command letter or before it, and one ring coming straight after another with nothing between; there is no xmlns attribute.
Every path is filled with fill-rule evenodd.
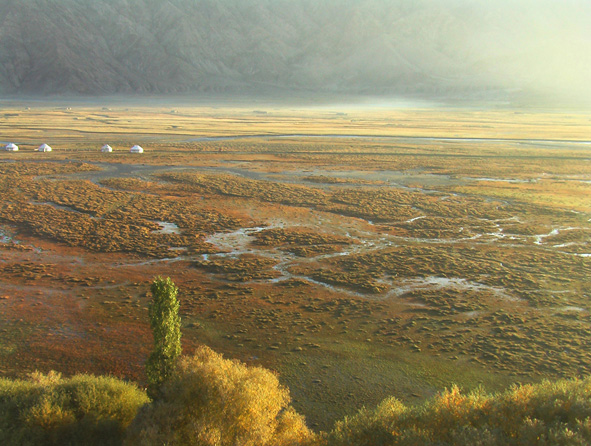
<svg viewBox="0 0 591 446"><path fill-rule="evenodd" d="M0 0L0 94L589 97L567 0Z"/></svg>

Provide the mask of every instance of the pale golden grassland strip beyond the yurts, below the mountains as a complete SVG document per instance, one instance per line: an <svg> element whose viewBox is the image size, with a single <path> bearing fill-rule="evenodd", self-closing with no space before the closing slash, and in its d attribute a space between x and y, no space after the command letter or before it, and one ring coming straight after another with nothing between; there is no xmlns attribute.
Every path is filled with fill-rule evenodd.
<svg viewBox="0 0 591 446"><path fill-rule="evenodd" d="M127 143L158 138L262 134L348 134L409 137L589 139L589 116L506 110L293 107L264 110L217 106L4 105L0 134L28 142L58 141L64 148L105 139ZM39 144L37 144L39 145ZM113 146L116 148L116 146Z"/></svg>

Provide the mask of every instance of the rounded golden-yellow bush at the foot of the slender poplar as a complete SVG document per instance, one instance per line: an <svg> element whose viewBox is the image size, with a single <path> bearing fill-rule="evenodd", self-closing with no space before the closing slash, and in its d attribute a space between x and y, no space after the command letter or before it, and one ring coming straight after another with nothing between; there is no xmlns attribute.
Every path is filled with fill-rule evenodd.
<svg viewBox="0 0 591 446"><path fill-rule="evenodd" d="M128 429L128 445L282 446L311 438L277 377L207 347L178 362Z"/></svg>

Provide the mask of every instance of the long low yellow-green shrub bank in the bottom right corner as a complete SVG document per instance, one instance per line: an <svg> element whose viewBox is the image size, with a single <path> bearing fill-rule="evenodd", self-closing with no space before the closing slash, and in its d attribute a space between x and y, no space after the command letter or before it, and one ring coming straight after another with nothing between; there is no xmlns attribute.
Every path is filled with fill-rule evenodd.
<svg viewBox="0 0 591 446"><path fill-rule="evenodd" d="M591 378L515 386L499 395L457 387L420 406L388 399L338 422L329 446L591 444Z"/></svg>

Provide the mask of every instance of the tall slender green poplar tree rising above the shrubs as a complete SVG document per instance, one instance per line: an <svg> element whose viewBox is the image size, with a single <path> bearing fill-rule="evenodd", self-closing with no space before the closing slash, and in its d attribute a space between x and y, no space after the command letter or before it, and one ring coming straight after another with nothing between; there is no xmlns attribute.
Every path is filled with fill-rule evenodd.
<svg viewBox="0 0 591 446"><path fill-rule="evenodd" d="M172 374L181 354L180 303L178 288L170 277L156 277L152 283L152 303L149 306L150 326L154 334L154 350L146 361L148 395L158 398L160 386Z"/></svg>

